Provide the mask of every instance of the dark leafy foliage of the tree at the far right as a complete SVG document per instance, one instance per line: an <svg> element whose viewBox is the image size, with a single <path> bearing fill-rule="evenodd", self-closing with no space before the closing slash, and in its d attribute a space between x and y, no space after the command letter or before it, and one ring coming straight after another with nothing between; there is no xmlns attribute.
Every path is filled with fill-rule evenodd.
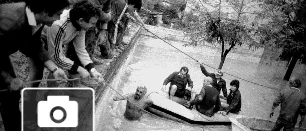
<svg viewBox="0 0 306 131"><path fill-rule="evenodd" d="M304 0L263 0L259 19L270 19L260 29L262 43L301 56L306 51L306 2Z"/></svg>

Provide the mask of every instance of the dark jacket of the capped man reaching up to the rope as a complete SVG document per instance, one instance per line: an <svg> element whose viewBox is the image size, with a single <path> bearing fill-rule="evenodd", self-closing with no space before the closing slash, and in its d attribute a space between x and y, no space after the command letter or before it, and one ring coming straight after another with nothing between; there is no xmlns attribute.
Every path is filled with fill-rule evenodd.
<svg viewBox="0 0 306 131"><path fill-rule="evenodd" d="M200 65L200 68L201 68L202 73L206 77L211 77L212 78L212 81L213 81L212 87L216 88L219 91L219 94L220 94L221 89L222 89L223 96L227 98L226 81L221 78L221 80L217 83L217 78L216 78L215 73L207 72L205 67L202 64Z"/></svg>

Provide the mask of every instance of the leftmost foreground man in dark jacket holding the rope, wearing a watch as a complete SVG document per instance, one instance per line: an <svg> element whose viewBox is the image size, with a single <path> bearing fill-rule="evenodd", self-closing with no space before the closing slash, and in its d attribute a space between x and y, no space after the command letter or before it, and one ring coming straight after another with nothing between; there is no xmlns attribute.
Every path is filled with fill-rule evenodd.
<svg viewBox="0 0 306 131"><path fill-rule="evenodd" d="M28 0L0 5L0 41L2 42L0 112L6 131L21 130L19 100L23 84L16 78L10 54L19 50L28 57L30 81L42 79L44 67L53 73L53 77L68 79L65 72L58 69L50 60L40 41L43 26L51 26L54 21L59 20L67 7L69 7L67 0ZM39 82L29 86L38 87L38 85ZM35 99L36 94L27 94L27 96L26 101L31 101Z"/></svg>

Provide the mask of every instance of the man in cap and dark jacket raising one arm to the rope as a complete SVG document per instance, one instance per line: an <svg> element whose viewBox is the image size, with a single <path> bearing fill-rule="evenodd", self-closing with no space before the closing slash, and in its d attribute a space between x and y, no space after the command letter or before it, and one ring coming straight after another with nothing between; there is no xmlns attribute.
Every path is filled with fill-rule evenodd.
<svg viewBox="0 0 306 131"><path fill-rule="evenodd" d="M223 76L222 70L218 69L215 73L209 73L206 71L201 61L198 61L198 64L200 64L202 73L206 77L212 78L213 80L212 87L216 88L219 91L219 93L221 92L222 89L223 96L220 96L220 98L227 99L226 81L221 78Z"/></svg>

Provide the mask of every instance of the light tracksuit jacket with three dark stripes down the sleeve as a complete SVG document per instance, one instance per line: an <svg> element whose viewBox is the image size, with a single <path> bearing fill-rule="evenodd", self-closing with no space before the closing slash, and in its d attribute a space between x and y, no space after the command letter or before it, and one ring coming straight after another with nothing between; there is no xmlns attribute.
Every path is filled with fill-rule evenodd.
<svg viewBox="0 0 306 131"><path fill-rule="evenodd" d="M86 66L92 63L85 49L85 31L77 31L71 23L69 11L64 10L61 19L54 21L52 26L47 28L49 55L54 63L68 70L72 68L74 62L66 58L65 54L67 52L63 52L63 45L65 45L65 51L67 51L70 41L73 41L73 46L82 65Z"/></svg>

